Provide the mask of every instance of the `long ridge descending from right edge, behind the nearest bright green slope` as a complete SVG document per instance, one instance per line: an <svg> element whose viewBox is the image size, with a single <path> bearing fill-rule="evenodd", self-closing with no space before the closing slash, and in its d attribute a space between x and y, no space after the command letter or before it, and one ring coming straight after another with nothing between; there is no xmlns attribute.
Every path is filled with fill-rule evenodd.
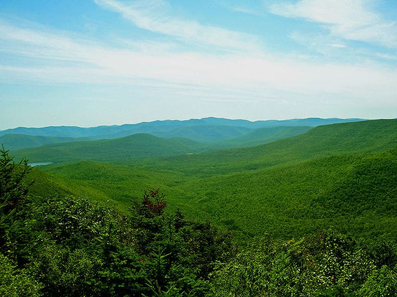
<svg viewBox="0 0 397 297"><path fill-rule="evenodd" d="M255 170L331 155L378 152L397 146L397 119L324 125L291 138L252 148L151 158L139 162L198 176Z"/></svg>

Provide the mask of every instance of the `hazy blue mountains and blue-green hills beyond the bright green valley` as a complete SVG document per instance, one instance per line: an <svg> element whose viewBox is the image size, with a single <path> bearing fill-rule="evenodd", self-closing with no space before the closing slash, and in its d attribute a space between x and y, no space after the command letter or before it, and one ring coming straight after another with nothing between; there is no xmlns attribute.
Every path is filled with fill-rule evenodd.
<svg viewBox="0 0 397 297"><path fill-rule="evenodd" d="M0 131L0 143L15 151L17 157L29 155L31 162L60 163L72 160L123 162L126 158L254 147L302 134L318 125L355 121L362 120L308 118L250 122L203 118L91 128L20 127ZM150 138L153 136L157 138ZM87 141L93 142L88 144ZM44 147L39 148L41 146ZM114 151L113 156L110 157L112 150L107 148L117 151ZM18 149L20 151L17 151Z"/></svg>

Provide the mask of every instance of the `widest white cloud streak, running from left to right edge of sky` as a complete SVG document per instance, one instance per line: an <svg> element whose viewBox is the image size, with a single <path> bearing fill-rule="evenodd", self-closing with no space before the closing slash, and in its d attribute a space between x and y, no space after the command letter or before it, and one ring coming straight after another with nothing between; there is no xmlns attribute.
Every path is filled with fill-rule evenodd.
<svg viewBox="0 0 397 297"><path fill-rule="evenodd" d="M313 101L334 97L373 102L374 96L382 94L377 96L379 101L397 104L396 69L305 62L260 53L179 52L167 44L150 52L151 41L134 42L132 49L125 49L126 41L122 41L122 49L62 31L37 31L5 22L0 22L0 41L0 51L19 60L35 60L0 65L3 82L160 86L160 92L173 94L189 85L186 92L195 89L203 98L227 100L233 94L229 98L235 101L259 98L270 102L275 100L272 94L278 93L287 95L276 99L291 103L295 96Z"/></svg>

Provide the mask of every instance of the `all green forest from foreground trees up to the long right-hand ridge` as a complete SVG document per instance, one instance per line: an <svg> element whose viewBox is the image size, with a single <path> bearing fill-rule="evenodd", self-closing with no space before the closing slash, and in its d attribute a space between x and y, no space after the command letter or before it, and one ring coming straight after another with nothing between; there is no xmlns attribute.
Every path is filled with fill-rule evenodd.
<svg viewBox="0 0 397 297"><path fill-rule="evenodd" d="M0 295L396 296L396 131L40 168L2 147Z"/></svg>

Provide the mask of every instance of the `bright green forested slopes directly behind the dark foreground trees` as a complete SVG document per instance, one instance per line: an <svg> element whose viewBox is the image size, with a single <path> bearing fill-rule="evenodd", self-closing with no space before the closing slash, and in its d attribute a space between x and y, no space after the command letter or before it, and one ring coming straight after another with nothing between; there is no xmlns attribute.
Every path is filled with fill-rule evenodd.
<svg viewBox="0 0 397 297"><path fill-rule="evenodd" d="M397 148L206 178L91 161L41 169L68 181L74 193L84 189L120 208L160 187L171 211L209 218L240 239L266 232L288 239L330 226L355 237L397 239Z"/></svg>

